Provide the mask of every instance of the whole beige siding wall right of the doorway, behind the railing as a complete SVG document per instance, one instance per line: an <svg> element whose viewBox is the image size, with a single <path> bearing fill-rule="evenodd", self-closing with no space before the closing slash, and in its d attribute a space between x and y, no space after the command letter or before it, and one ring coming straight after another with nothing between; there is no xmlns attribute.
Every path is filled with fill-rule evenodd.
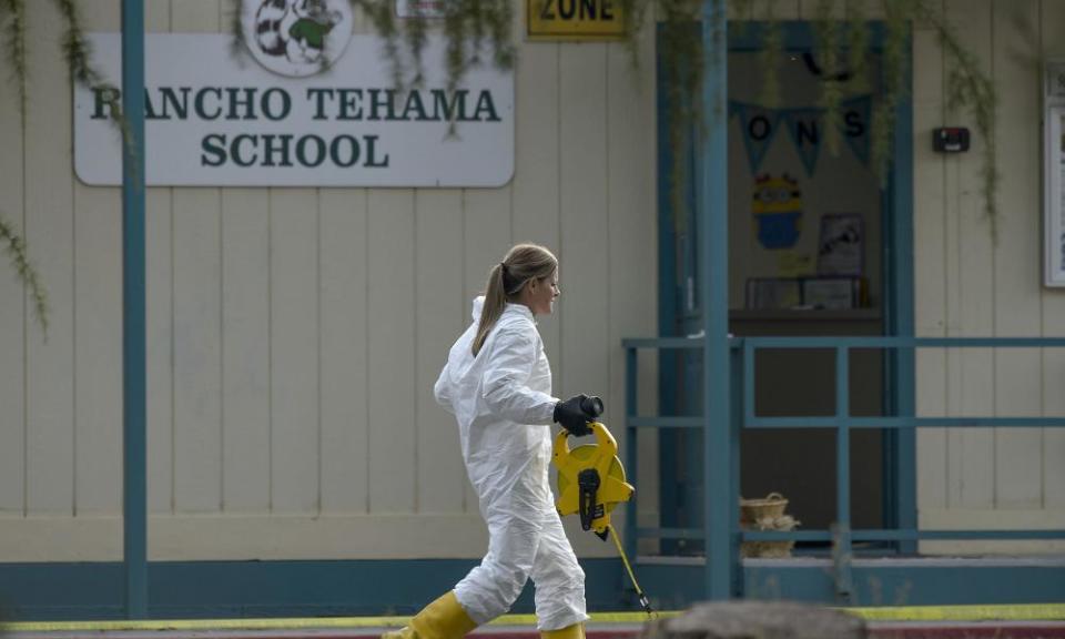
<svg viewBox="0 0 1065 639"><path fill-rule="evenodd" d="M916 34L915 291L921 335L1065 335L1062 293L1042 286L1042 55L1061 55L1059 0L944 0L962 43L998 91L995 129L1001 183L997 237L984 214L983 145L967 112L944 103L949 58ZM932 128L965 125L973 148L958 155L922 149ZM941 182L942 181L942 182ZM951 349L919 354L923 415L1065 414L1057 349ZM1042 383L1039 383L1042 381ZM943 384L945 382L945 389ZM922 525L930 528L1059 527L1061 460L1056 429L923 430L919 435ZM945 468L945 471L944 471ZM1003 515L1008 511L1008 515ZM929 551L1048 551L1056 542L923 544Z"/></svg>

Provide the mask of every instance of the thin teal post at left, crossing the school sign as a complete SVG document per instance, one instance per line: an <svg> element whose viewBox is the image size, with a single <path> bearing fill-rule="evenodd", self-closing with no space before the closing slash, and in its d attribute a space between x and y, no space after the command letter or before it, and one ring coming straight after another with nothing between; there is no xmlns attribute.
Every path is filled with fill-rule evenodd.
<svg viewBox="0 0 1065 639"><path fill-rule="evenodd" d="M122 408L125 615L148 617L144 3L122 0Z"/></svg>

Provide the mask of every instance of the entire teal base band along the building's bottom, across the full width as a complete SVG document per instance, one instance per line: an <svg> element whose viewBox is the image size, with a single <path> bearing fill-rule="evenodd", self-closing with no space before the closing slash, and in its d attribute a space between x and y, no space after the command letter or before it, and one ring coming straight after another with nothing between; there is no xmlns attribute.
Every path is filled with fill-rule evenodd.
<svg viewBox="0 0 1065 639"><path fill-rule="evenodd" d="M633 565L658 610L704 599L701 561ZM455 585L474 560L195 561L149 564L148 618L223 619L412 615ZM586 559L592 612L639 611L619 559ZM852 606L1021 605L1065 601L1065 558L855 559ZM749 599L832 604L828 559L746 560ZM124 617L123 567L0 564L0 617L17 621ZM532 611L526 587L513 612Z"/></svg>

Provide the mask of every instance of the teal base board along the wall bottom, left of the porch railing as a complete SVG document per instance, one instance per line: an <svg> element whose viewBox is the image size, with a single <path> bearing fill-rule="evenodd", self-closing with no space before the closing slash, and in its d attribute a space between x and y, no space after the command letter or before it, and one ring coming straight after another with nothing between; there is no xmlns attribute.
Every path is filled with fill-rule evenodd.
<svg viewBox="0 0 1065 639"><path fill-rule="evenodd" d="M148 618L413 615L477 565L473 559L151 561ZM619 559L587 559L592 610L639 610ZM121 562L0 564L0 618L125 617ZM527 586L513 612L532 612Z"/></svg>

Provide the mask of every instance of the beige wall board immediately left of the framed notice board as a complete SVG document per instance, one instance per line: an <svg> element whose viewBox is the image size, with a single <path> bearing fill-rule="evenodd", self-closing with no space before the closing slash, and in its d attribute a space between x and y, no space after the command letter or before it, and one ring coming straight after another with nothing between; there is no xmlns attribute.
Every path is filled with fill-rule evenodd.
<svg viewBox="0 0 1065 639"><path fill-rule="evenodd" d="M1042 323L1039 255L1042 233L1042 135L1038 0L994 3L994 78L998 84L996 148L997 244L994 261L995 334L1038 336ZM1033 32L1034 30L1034 32ZM1018 258L1025 256L1024 258ZM995 413L1037 416L1042 412L1037 349L1001 348L995 361ZM995 432L995 506L1042 505L1043 433L1039 428Z"/></svg>

